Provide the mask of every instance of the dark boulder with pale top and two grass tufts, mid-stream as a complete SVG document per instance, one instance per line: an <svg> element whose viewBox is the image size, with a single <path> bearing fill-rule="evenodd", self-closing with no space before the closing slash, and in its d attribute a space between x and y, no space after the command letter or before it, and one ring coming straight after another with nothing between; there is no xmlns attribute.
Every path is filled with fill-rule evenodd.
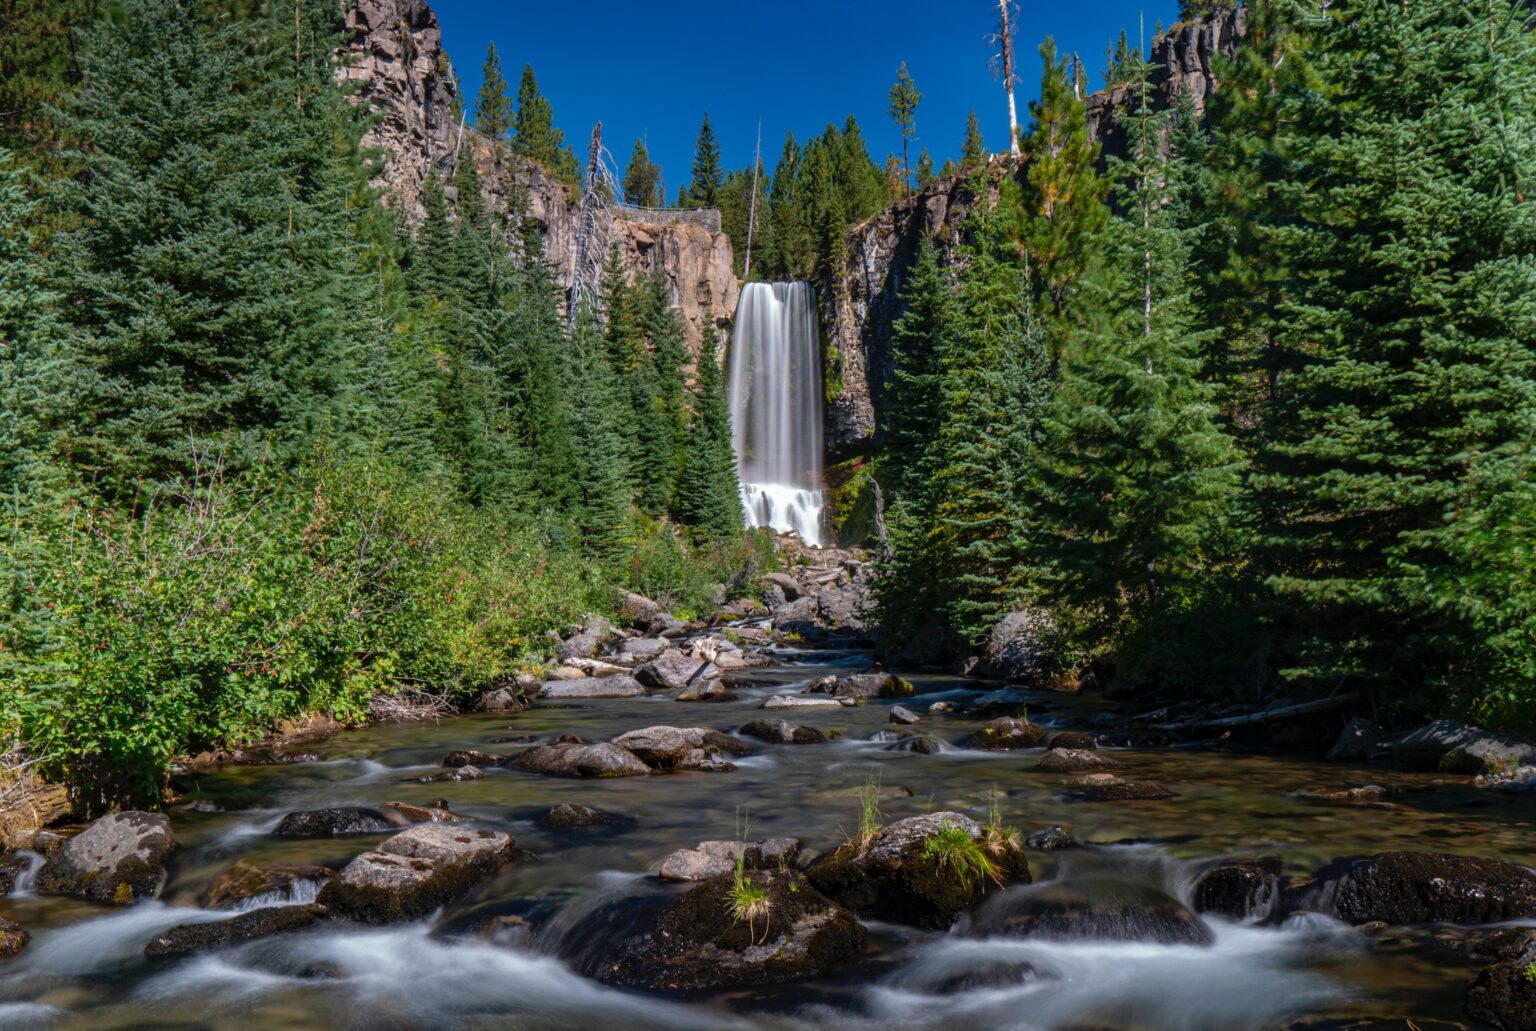
<svg viewBox="0 0 1536 1031"><path fill-rule="evenodd" d="M868 844L846 842L806 873L817 891L860 916L943 930L988 891L1000 887L985 876L963 876L935 854L929 842L954 830L977 842L995 864L997 880L1028 883L1029 862L1023 848L988 833L962 813L912 816L886 827Z"/></svg>

